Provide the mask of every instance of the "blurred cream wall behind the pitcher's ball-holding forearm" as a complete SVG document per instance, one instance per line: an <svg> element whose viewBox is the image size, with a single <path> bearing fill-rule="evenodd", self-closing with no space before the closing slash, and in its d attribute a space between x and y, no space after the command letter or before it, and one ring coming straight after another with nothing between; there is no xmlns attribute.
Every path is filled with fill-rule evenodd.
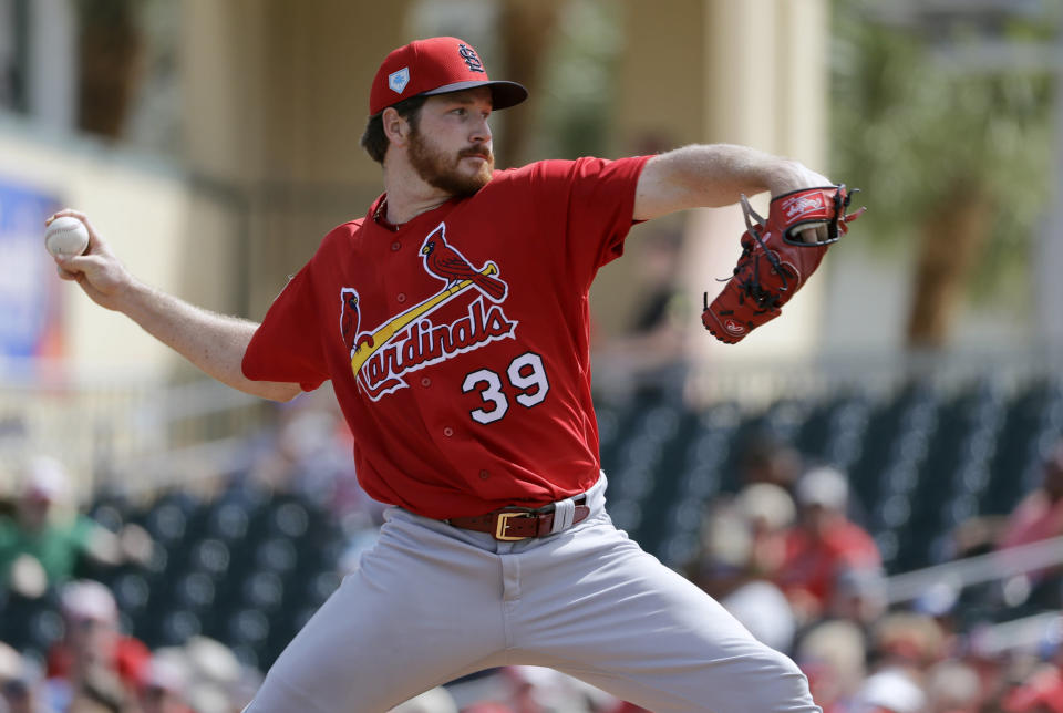
<svg viewBox="0 0 1063 713"><path fill-rule="evenodd" d="M56 142L7 123L0 127L0 175L86 211L144 281L194 296L209 309L234 311L231 236L239 216L184 175L93 142ZM168 350L130 320L91 302L78 286L64 282L61 294L72 374L151 378L174 366Z"/></svg>

